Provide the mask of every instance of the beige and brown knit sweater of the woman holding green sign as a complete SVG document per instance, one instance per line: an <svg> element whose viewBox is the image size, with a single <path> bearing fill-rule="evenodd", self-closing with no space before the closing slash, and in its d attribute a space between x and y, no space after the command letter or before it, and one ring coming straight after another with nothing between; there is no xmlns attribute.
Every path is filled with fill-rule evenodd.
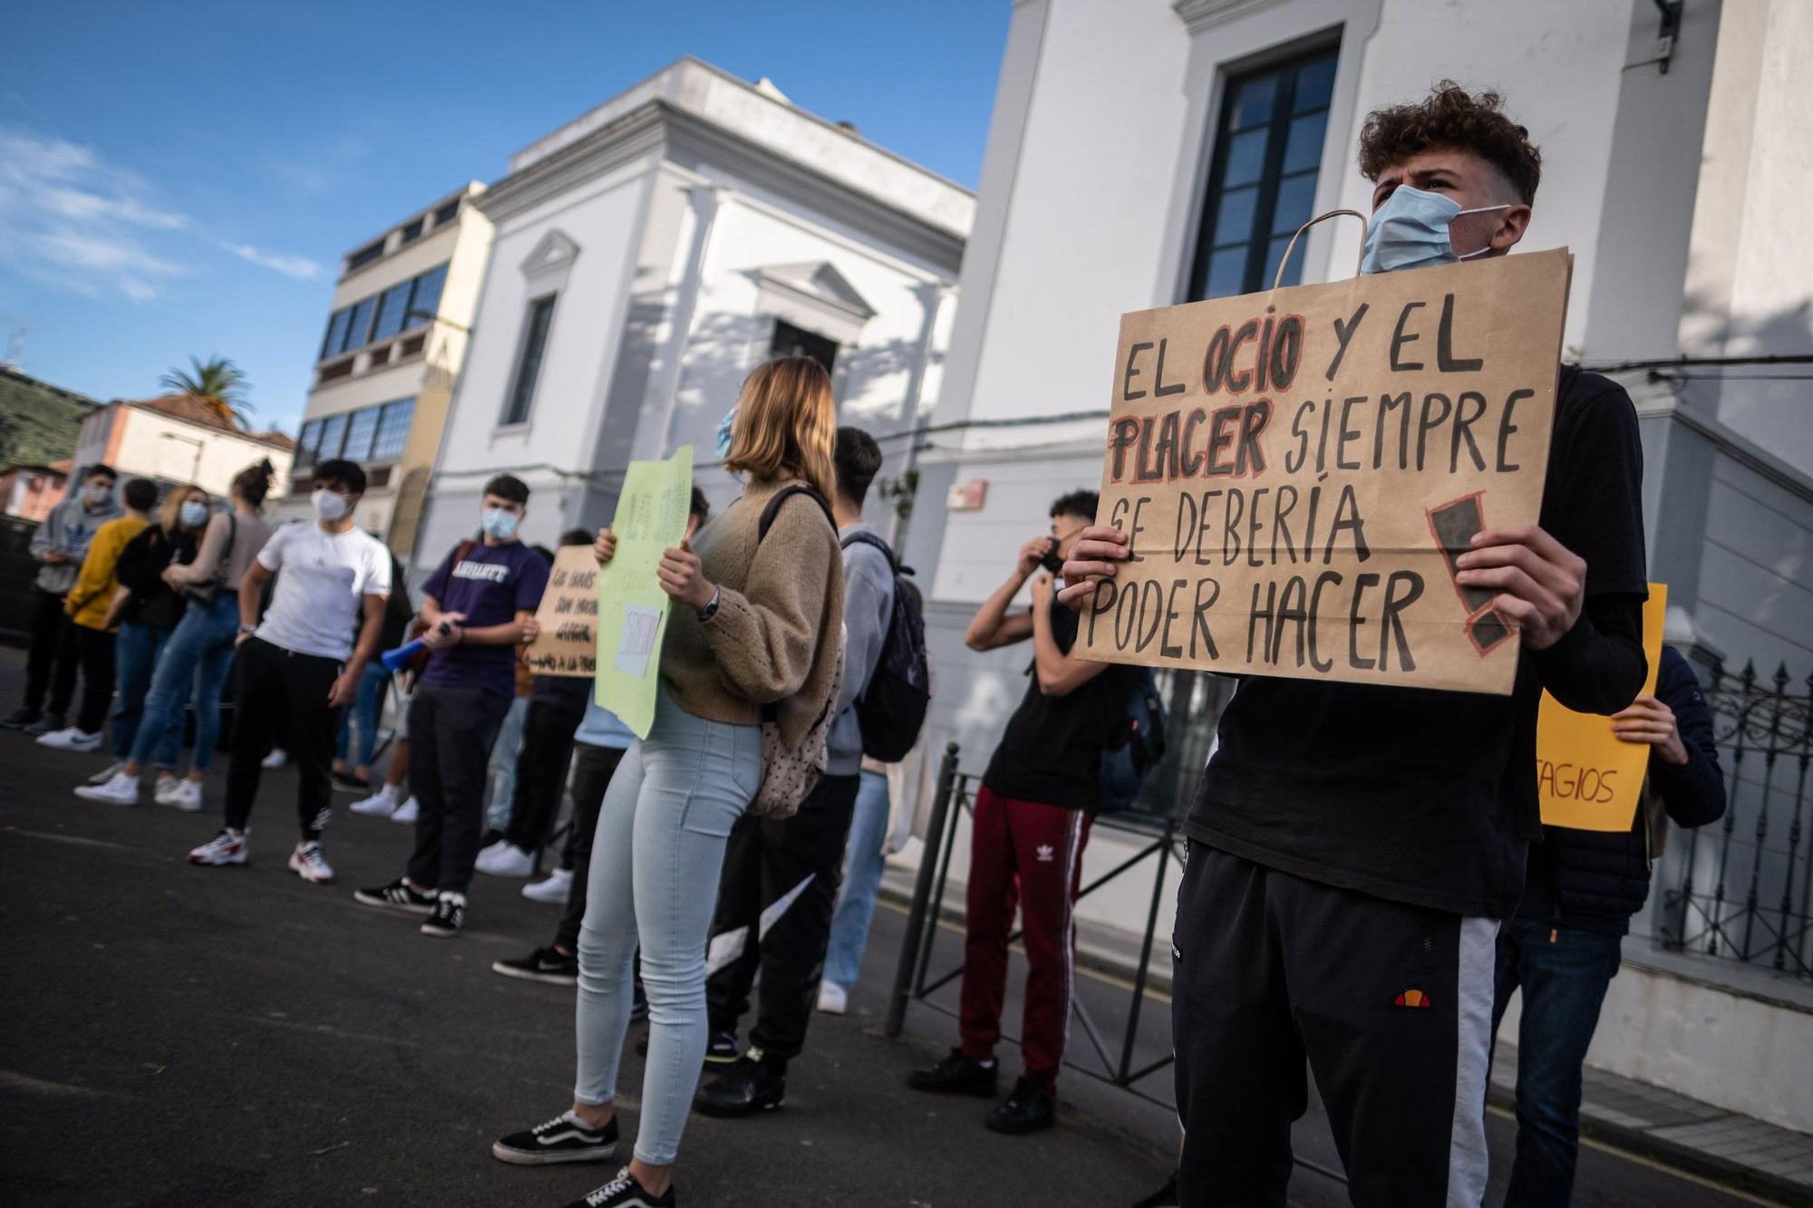
<svg viewBox="0 0 1813 1208"><path fill-rule="evenodd" d="M805 736L830 697L843 640L843 551L825 511L792 495L756 541L761 510L787 482L752 482L693 537L718 588L709 622L685 604L667 615L662 680L694 716L752 726L778 706L781 740Z"/></svg>

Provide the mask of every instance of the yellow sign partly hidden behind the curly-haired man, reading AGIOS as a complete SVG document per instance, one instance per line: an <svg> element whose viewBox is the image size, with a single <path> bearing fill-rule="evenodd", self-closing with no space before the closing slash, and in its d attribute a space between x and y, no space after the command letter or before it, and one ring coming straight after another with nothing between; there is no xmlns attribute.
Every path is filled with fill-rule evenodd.
<svg viewBox="0 0 1813 1208"><path fill-rule="evenodd" d="M1643 653L1650 660L1643 691L1652 697L1663 662L1666 615L1668 586L1652 582L1643 606ZM1575 713L1543 693L1543 707L1536 715L1536 785L1546 825L1628 831L1643 800L1648 765L1650 744L1624 742L1612 733L1612 718Z"/></svg>

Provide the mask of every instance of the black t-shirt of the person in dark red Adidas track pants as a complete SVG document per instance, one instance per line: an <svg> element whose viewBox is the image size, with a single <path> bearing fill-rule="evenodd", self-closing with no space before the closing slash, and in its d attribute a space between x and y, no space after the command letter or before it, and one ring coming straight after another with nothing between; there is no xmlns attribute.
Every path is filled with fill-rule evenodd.
<svg viewBox="0 0 1813 1208"><path fill-rule="evenodd" d="M1077 640L1077 613L1057 600L1052 600L1052 638L1066 655ZM1142 677L1144 667L1110 666L1068 697L1046 697L1039 675L1028 671L1026 698L1008 718L983 784L1015 802L1095 813L1102 747Z"/></svg>

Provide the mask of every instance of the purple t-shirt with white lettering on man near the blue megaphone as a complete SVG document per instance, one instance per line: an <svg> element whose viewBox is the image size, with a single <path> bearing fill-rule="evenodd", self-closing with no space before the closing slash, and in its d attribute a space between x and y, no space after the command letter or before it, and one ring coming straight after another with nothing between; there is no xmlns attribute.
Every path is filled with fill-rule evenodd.
<svg viewBox="0 0 1813 1208"><path fill-rule="evenodd" d="M466 629L484 629L533 613L548 586L548 562L520 541L504 546L475 544L459 559L459 546L448 551L424 593L441 600L441 611L466 613ZM499 697L517 695L515 646L450 646L428 655L424 684L441 687L482 687Z"/></svg>

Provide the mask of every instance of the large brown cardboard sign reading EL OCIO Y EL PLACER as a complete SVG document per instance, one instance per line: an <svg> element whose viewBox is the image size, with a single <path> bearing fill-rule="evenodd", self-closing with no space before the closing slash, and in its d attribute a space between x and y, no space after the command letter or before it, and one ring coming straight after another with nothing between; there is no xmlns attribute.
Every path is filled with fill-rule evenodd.
<svg viewBox="0 0 1813 1208"><path fill-rule="evenodd" d="M1102 662L1508 695L1517 631L1454 584L1536 524L1566 250L1120 317L1099 524L1131 559Z"/></svg>

